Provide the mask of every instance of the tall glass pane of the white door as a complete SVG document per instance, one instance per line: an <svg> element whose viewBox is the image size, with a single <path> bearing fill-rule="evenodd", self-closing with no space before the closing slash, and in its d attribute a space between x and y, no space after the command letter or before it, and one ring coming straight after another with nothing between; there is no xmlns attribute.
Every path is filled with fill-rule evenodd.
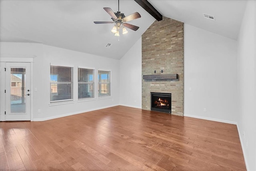
<svg viewBox="0 0 256 171"><path fill-rule="evenodd" d="M25 68L11 68L11 113L26 113Z"/></svg>

